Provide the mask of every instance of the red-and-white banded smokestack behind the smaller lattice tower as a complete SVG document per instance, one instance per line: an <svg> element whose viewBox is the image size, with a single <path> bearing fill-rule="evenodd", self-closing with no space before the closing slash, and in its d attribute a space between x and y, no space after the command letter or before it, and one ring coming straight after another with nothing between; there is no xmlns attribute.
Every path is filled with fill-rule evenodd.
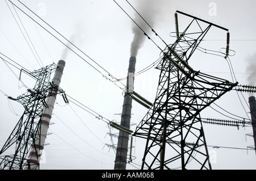
<svg viewBox="0 0 256 181"><path fill-rule="evenodd" d="M63 60L60 60L57 64L57 69L56 69L55 75L52 79L52 82L57 86L60 85L60 80L63 75L64 66L65 66L65 61L63 61ZM42 155L42 151L44 149L44 143L46 141L46 134L48 132L49 122L52 117L52 111L54 108L55 100L56 100L56 95L49 96L46 100L48 107L43 108L43 113L41 116L42 125L41 125L41 128L39 128L40 129L39 130L40 138L39 138L39 135L36 135L36 138L37 138L36 140L38 140L38 141L35 143L37 149L40 149L40 151L38 153L38 157L36 157L36 152L35 152L36 150L35 150L34 146L32 146L30 154L28 155L28 162L30 163L31 170L39 169L38 163L40 161L40 156Z"/></svg>

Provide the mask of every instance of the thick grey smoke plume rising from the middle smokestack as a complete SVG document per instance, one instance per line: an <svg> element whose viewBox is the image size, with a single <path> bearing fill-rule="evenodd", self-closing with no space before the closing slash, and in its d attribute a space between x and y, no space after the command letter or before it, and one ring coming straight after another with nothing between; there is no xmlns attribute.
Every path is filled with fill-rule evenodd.
<svg viewBox="0 0 256 181"><path fill-rule="evenodd" d="M160 21L160 14L163 12L162 9L164 7L163 0L138 0L137 6L134 8L139 12L139 14L143 17L144 20L152 28L154 28L155 23ZM137 13L135 13L134 21L142 28L142 30L147 33L151 32L150 27L144 22ZM141 28L139 28L136 24L133 23L132 31L134 34L133 41L131 43L130 55L136 57L138 54L138 50L142 48L144 41L146 40L146 36L144 35Z"/></svg>

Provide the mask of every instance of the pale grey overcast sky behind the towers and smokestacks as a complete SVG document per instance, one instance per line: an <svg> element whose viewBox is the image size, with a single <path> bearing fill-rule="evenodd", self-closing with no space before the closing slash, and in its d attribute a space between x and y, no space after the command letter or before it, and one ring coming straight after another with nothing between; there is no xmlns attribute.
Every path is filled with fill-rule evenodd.
<svg viewBox="0 0 256 181"><path fill-rule="evenodd" d="M134 23L113 0L20 0L20 2L12 2L26 14L35 18L64 44L67 44L63 37L28 11L20 3L22 2L113 77L117 79L126 77L130 45L133 41L131 27ZM131 18L137 19L134 10L125 0L116 2ZM256 1L130 0L129 2L154 26L154 30L167 44L175 42L175 38L170 36L170 33L175 32L174 14L176 10L228 28L230 49L233 50L230 61L236 79L241 85L256 85L254 79L256 73L256 22L254 20ZM60 87L66 94L107 119L119 122L121 117L118 114L122 111L123 91L102 76L104 74L110 78L85 54L73 48L102 74L77 54L67 50L64 44L33 22L22 11L7 0L0 2L0 52L30 71L53 62L57 64L60 59L63 59L66 65ZM180 31L183 31L188 23L190 23L188 18L179 16ZM162 41L153 33L148 33L148 35L161 49L165 48ZM221 48L226 47L226 32L212 28L201 47L216 51L223 50ZM2 54L1 57L3 57ZM135 72L155 62L159 55L160 50L156 45L145 39L143 46L138 50ZM17 77L20 71L18 69L13 66L9 69L2 60L0 64L0 146L2 147L24 111L22 105L7 99L6 95L15 98L27 91L26 86L33 88L34 82L26 74L22 74L22 82L19 81ZM196 51L189 64L195 70L233 82L229 64L222 57ZM158 76L159 71L154 68L137 75L134 90L151 102L154 101ZM238 119L237 116L240 116L249 119L248 98L249 94L245 92L237 94L236 91L230 91L216 101L219 107L212 105L212 108L222 114L209 107L201 112L201 117L230 120L230 117ZM131 122L138 125L146 115L147 109L133 102L132 113ZM108 145L117 144L117 138L113 137L112 141L108 133L110 131L118 133L117 130L110 130L104 121L96 119L95 116L75 104L65 104L61 96L57 96L51 121L55 124L49 127L49 133L52 134L47 136L46 142L49 145L44 147L40 169L114 168L114 150ZM131 129L134 131L135 127L136 125L133 125ZM246 150L247 146L253 145L253 138L246 136L252 132L251 127L237 129L236 127L204 124L204 131L209 145L208 150L213 158L213 169L256 169L255 151ZM135 138L135 147L132 151L134 160L132 164L127 165L127 169L140 168L144 144L145 140ZM216 149L210 146L221 148ZM10 151L8 154L13 153Z"/></svg>

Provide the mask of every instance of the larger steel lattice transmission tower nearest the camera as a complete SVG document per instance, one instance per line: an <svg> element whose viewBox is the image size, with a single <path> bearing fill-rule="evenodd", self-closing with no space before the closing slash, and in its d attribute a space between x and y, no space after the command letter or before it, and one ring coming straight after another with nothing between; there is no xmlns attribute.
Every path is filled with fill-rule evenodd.
<svg viewBox="0 0 256 181"><path fill-rule="evenodd" d="M192 18L183 33L177 13ZM134 133L146 139L142 169L211 169L200 112L237 85L188 65L210 27L228 30L177 13L177 40L163 51L156 67L160 76L155 102Z"/></svg>

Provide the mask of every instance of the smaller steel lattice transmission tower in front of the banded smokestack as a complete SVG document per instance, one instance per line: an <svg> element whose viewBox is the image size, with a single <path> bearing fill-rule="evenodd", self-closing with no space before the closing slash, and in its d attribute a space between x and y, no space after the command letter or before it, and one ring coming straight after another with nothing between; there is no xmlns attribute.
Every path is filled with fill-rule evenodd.
<svg viewBox="0 0 256 181"><path fill-rule="evenodd" d="M51 64L28 73L36 79L34 89L27 90L16 99L9 97L22 104L25 110L0 151L0 169L39 169L39 162L31 163L28 153L33 149L33 156L39 160L43 149L41 129L42 125L46 124L42 113L50 106L47 105L46 99L64 93L58 85L50 81L51 74L53 71L60 71L58 69L59 66ZM14 154L9 154L10 151L14 151Z"/></svg>

